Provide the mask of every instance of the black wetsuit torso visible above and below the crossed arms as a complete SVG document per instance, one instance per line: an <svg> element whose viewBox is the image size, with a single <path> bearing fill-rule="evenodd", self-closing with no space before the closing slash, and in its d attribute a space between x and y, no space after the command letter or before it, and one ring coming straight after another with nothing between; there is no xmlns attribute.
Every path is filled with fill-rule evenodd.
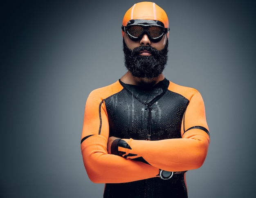
<svg viewBox="0 0 256 198"><path fill-rule="evenodd" d="M105 100L110 135L135 140L181 138L183 114L189 100L167 90L167 79L150 90L126 85ZM104 198L187 198L184 174L174 174L170 180L159 177L106 184Z"/></svg>

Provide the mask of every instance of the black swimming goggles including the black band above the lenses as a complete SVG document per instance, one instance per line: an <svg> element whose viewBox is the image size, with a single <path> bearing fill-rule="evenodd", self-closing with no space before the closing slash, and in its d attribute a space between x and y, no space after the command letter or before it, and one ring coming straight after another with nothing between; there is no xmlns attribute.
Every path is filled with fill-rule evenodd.
<svg viewBox="0 0 256 198"><path fill-rule="evenodd" d="M122 26L122 30L133 41L141 40L147 34L151 41L158 42L170 29L165 28L160 21L136 19L128 21L126 26Z"/></svg>

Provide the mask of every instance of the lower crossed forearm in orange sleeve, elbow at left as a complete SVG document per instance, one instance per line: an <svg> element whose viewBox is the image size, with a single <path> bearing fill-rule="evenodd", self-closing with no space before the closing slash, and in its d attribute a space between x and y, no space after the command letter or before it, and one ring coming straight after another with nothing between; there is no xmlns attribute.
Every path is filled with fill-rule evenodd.
<svg viewBox="0 0 256 198"><path fill-rule="evenodd" d="M155 177L159 171L148 164L108 154L106 139L101 135L93 135L83 141L81 151L85 169L92 182L132 182Z"/></svg>

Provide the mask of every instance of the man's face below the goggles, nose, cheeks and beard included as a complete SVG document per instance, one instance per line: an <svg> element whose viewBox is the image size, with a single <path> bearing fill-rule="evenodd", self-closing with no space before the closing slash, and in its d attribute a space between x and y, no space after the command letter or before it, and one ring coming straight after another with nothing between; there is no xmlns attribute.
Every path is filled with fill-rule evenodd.
<svg viewBox="0 0 256 198"><path fill-rule="evenodd" d="M158 42L151 42L146 34L138 41L132 41L124 34L125 66L138 78L159 76L167 63L168 39L165 35Z"/></svg>

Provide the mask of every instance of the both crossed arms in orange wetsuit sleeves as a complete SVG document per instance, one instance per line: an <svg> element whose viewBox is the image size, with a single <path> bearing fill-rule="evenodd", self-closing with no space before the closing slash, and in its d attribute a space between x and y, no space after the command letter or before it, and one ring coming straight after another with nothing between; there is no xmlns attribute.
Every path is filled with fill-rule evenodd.
<svg viewBox="0 0 256 198"><path fill-rule="evenodd" d="M186 132L182 133L182 138L157 141L122 139L129 147L120 147L118 144L112 146L112 142L119 138L109 137L104 103L100 106L99 120L100 102L100 98L95 100L94 93L88 97L82 132L83 162L92 182L131 182L157 177L159 169L186 171L203 164L209 147L208 133L198 128L186 131L193 126L202 126L208 130L199 93L191 98L187 107L185 122L182 122L182 131ZM148 163L134 160L138 157L143 157Z"/></svg>

